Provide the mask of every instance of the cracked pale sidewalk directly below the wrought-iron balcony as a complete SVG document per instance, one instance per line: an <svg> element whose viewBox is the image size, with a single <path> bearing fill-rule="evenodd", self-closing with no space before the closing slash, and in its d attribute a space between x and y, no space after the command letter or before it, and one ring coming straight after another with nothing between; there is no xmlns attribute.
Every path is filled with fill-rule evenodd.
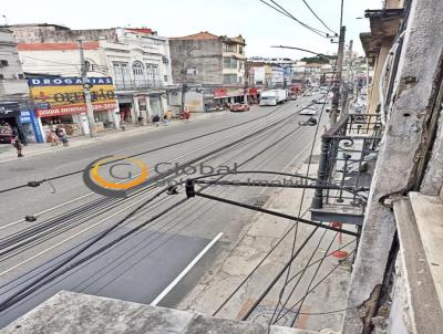
<svg viewBox="0 0 443 334"><path fill-rule="evenodd" d="M311 166L309 176L317 178L318 170L318 155L319 147L317 147ZM296 168L288 170L288 173L298 173L306 175L308 168L308 160L298 164ZM264 208L284 212L287 215L297 216L299 203L301 199L301 189L280 189L274 190L269 195L270 200L264 206ZM305 212L310 206L313 191L307 190L303 199L302 210ZM309 212L305 217L309 219ZM207 270L197 285L179 302L177 305L178 310L193 310L204 314L213 314L218 306L230 295L230 293L247 278L247 275L262 261L266 254L279 242L279 240L287 233L287 231L293 226L293 221L287 219L268 216L265 213L257 213L251 221L245 221L245 229L238 237L237 242L233 242L231 249L228 253L219 254L212 268ZM300 223L298 228L297 247L307 236L312 231L313 227ZM299 257L292 264L291 275L296 274L308 263L309 258L312 254L313 249L319 243L320 247L316 252L316 255L311 260L311 263L321 259L327 251L330 242L333 241L331 251L341 247L337 238L334 239L334 232L328 231L323 239L320 236L323 230L319 230L308 246L300 252ZM351 238L343 236L342 244L351 241ZM275 275L284 268L290 257L290 251L293 241L293 232L284 239L284 241L276 248L276 250L261 263L259 269L249 278L249 280L239 289L234 298L225 305L217 317L228 319L241 319L245 312L253 305L258 296L265 291L269 282L272 281ZM350 247L343 249L351 251ZM330 253L330 252L328 252ZM313 284L320 281L331 268L336 267L339 260L334 257L328 257L324 263L320 268L320 271L316 275ZM317 265L308 269L305 276L301 279L296 293L290 299L290 303L287 305L292 306L306 293L309 285L309 280L315 274ZM284 275L285 276L285 275ZM309 294L309 298L302 305L303 313L316 313L324 312L330 310L340 310L346 307L347 301L347 288L351 276L349 261L343 261L342 264L333 271L333 274L324 280L315 291ZM297 278L298 279L298 278ZM297 279L295 281L297 281ZM272 315L274 309L278 301L278 293L282 286L282 280L280 279L277 285L267 294L260 305L248 319L253 322L266 323ZM313 288L312 285L311 288ZM290 291L292 285L288 285L287 290ZM285 294L285 296L287 293ZM284 299L285 301L285 299ZM295 309L297 311L297 307ZM295 326L297 328L321 331L324 328L332 328L332 331L339 331L342 313L332 313L322 316L316 315L300 315ZM282 317L278 323L279 325L290 324L290 313ZM328 332L332 333L332 332Z"/></svg>

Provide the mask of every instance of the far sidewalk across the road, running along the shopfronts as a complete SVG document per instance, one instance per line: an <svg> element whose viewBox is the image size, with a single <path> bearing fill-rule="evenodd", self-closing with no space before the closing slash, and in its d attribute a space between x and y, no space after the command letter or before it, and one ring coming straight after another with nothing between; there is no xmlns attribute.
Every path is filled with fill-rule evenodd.
<svg viewBox="0 0 443 334"><path fill-rule="evenodd" d="M223 112L210 112L210 113L194 113L190 116L190 123L193 122L198 122L198 121L204 121L208 118L214 118L214 117L220 117L229 114L227 111ZM70 146L69 147L63 147L62 144L59 144L59 146L51 146L51 144L29 144L24 146L23 148L23 155L24 158L27 157L34 157L39 155L44 155L44 154L53 154L59 150L65 150L70 149L72 147L80 147L84 145L94 145L103 142L112 142L121 138L122 135L125 137L127 136L134 136L141 133L145 132L154 132L154 131L163 131L169 126L179 126L184 124L184 121L181 119L173 119L168 126L161 125L161 126L154 126L152 123L148 123L144 126L132 124L126 127L126 131L121 131L121 129L111 129L111 131L105 131L102 133L99 133L95 138L91 138L89 136L80 136L80 137L73 137L70 138ZM0 145L0 164L2 163L8 163L12 160L18 160L19 158L17 157L17 152L16 148L10 145L10 144L1 144Z"/></svg>

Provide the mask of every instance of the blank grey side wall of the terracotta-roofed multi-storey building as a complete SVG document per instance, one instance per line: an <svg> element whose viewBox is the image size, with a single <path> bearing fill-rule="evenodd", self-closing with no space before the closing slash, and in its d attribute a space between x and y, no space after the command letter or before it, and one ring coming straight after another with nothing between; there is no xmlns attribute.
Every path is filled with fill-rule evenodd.
<svg viewBox="0 0 443 334"><path fill-rule="evenodd" d="M222 39L169 40L174 83L222 85ZM196 70L195 74L192 69Z"/></svg>

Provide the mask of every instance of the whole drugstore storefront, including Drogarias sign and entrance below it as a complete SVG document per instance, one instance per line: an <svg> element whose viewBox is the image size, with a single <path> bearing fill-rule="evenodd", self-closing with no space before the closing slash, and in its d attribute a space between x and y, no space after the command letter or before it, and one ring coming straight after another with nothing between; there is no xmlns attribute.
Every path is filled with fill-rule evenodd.
<svg viewBox="0 0 443 334"><path fill-rule="evenodd" d="M28 81L45 138L54 126L68 136L89 134L84 88L79 77L37 77ZM96 131L113 127L119 111L111 77L90 77L90 92Z"/></svg>

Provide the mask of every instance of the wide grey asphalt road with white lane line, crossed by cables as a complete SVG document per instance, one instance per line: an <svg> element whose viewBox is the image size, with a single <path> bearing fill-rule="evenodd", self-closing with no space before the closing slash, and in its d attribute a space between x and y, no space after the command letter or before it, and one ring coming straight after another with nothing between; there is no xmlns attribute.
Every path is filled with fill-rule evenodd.
<svg viewBox="0 0 443 334"><path fill-rule="evenodd" d="M4 163L0 165L0 189L81 170L103 156L134 155L223 128L227 129L137 158L153 168L158 163L184 164L206 155L204 164L215 169L220 166L233 168L237 164L239 170L284 170L297 166L309 155L316 127L299 126L299 122L307 116L297 115L297 112L316 97L305 97L277 107L257 106L247 113L165 126L155 132L122 133L117 140ZM235 126L241 123L245 124ZM229 145L235 142L238 143ZM199 164L200 160L194 166ZM155 175L155 170L150 171L150 177ZM234 175L224 179L245 180L248 177L272 179L259 175ZM178 178L185 179L186 176ZM0 304L125 217L158 189L158 185L153 184L127 199L110 199L96 194L87 195L91 190L78 174L54 180L51 185L47 182L38 188L0 195ZM198 274L210 270L210 257L233 247L254 212L203 198L190 198L148 222L152 217L186 198L183 187L178 190L177 195L162 195L150 202L73 262L138 227L134 233L1 312L0 327L60 290L150 303L216 234L223 232L222 240L189 275L197 279ZM255 205L262 203L268 196L258 187L212 186L203 191ZM65 202L69 203L51 209ZM40 215L34 222L18 222L2 228L43 210L50 211ZM177 286L161 304L171 306L189 288Z"/></svg>

